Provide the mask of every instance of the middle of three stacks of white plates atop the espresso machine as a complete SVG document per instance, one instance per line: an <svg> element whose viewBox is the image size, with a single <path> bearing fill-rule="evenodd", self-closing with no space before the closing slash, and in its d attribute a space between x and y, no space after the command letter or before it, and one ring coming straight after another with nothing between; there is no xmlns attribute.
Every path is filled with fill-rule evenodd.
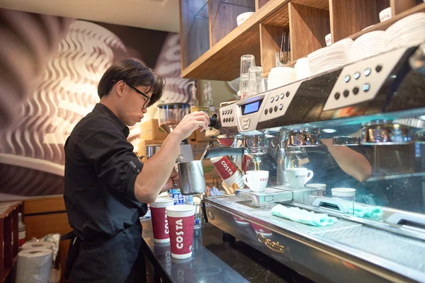
<svg viewBox="0 0 425 283"><path fill-rule="evenodd" d="M385 52L385 31L375 30L358 37L351 49L351 61L372 57Z"/></svg>

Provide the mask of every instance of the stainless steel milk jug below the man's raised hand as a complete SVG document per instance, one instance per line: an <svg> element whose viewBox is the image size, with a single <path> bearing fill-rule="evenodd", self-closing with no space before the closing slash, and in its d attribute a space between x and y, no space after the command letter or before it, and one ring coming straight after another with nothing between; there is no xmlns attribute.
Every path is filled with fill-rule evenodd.
<svg viewBox="0 0 425 283"><path fill-rule="evenodd" d="M207 189L202 160L179 163L181 195L202 194Z"/></svg>

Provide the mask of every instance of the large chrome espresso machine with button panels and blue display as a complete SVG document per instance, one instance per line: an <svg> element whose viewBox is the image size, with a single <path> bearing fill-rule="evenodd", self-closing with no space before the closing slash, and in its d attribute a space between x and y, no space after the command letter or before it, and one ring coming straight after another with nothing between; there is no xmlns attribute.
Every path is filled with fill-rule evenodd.
<svg viewBox="0 0 425 283"><path fill-rule="evenodd" d="M205 221L314 282L425 282L424 63L425 44L400 47L220 107L207 136L242 141L241 170L269 179L205 197ZM298 167L314 175L291 187ZM273 216L278 204L337 221Z"/></svg>

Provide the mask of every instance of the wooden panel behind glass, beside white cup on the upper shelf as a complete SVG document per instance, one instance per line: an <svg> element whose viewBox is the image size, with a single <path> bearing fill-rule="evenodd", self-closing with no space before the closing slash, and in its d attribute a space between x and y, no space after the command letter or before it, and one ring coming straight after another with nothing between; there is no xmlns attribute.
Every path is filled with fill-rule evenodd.
<svg viewBox="0 0 425 283"><path fill-rule="evenodd" d="M210 0L209 5L211 47L237 28L237 16L255 11L254 0Z"/></svg>

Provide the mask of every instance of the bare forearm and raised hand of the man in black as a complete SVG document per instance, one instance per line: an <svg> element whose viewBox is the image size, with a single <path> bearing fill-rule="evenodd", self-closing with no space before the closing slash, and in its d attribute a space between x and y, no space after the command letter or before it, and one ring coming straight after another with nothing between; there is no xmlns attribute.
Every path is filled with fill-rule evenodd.
<svg viewBox="0 0 425 283"><path fill-rule="evenodd" d="M176 129L164 140L159 151L143 164L142 172L137 175L135 181L137 200L145 203L157 200L174 168L181 141L196 129L202 131L209 123L210 119L204 112L193 112L183 117Z"/></svg>

